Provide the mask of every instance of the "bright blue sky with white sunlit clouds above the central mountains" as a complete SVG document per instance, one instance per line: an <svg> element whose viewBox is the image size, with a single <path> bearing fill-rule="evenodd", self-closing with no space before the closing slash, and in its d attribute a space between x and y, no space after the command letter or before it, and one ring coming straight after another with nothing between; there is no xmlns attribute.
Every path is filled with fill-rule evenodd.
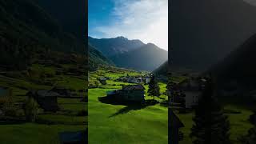
<svg viewBox="0 0 256 144"><path fill-rule="evenodd" d="M168 50L168 0L89 0L89 36L123 36Z"/></svg>

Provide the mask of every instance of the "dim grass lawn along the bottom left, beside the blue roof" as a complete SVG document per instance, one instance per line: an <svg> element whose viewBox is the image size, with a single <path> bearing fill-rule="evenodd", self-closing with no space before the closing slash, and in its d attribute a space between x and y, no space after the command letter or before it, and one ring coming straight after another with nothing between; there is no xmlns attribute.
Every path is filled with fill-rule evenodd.
<svg viewBox="0 0 256 144"><path fill-rule="evenodd" d="M0 125L0 139L1 144L58 144L58 132L85 129L85 125L40 125L34 123Z"/></svg>

